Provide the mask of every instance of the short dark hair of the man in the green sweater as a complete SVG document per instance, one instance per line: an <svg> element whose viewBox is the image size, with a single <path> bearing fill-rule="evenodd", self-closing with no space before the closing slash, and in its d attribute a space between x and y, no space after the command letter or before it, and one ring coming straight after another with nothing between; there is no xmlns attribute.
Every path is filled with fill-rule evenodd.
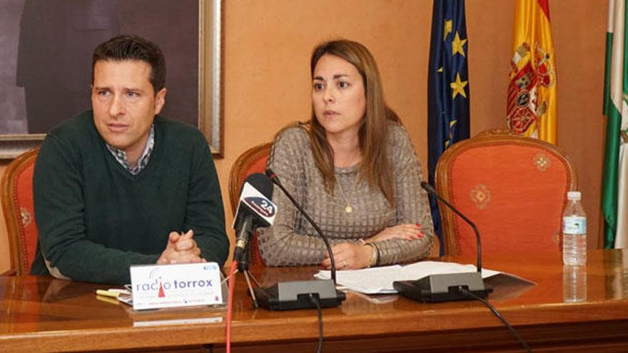
<svg viewBox="0 0 628 353"><path fill-rule="evenodd" d="M91 82L93 83L93 69L98 61L141 60L151 65L151 84L153 91L158 91L166 85L166 58L161 48L140 36L115 36L96 46L91 61Z"/></svg>

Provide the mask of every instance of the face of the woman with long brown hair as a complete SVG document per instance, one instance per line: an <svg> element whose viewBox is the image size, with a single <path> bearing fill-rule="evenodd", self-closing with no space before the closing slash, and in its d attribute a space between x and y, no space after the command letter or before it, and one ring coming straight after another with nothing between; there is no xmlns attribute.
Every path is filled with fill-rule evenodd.
<svg viewBox="0 0 628 353"><path fill-rule="evenodd" d="M353 64L338 56L321 56L314 67L312 102L316 119L328 137L358 135L366 95L362 76Z"/></svg>

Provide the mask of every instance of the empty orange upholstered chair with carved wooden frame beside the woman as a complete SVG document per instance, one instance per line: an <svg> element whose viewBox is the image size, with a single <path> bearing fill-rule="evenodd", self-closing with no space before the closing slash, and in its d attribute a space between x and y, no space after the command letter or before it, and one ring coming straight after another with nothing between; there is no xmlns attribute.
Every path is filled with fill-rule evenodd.
<svg viewBox="0 0 628 353"><path fill-rule="evenodd" d="M482 253L559 251L567 191L577 188L574 164L550 143L484 134L445 150L436 188L475 222ZM440 204L446 255L475 255L475 233Z"/></svg>

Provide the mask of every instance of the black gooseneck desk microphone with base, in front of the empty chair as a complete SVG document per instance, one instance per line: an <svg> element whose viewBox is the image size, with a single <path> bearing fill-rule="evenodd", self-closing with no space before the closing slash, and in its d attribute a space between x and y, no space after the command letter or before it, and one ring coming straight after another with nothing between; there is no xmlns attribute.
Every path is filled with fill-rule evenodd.
<svg viewBox="0 0 628 353"><path fill-rule="evenodd" d="M475 232L477 247L477 272L448 273L429 275L414 281L395 281L393 287L405 297L410 297L421 302L449 302L453 300L472 300L465 290L478 297L486 298L492 292L491 287L485 287L482 280L482 245L480 244L480 232L471 220L463 215L457 208L438 195L434 187L425 181L421 182L421 188L437 198L447 208L465 220Z"/></svg>

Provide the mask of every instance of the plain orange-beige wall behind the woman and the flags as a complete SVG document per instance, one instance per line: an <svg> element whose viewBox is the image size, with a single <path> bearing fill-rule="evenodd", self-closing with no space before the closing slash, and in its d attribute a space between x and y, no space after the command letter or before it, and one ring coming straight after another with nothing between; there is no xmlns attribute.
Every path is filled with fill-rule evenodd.
<svg viewBox="0 0 628 353"><path fill-rule="evenodd" d="M505 124L514 1L467 1L472 135ZM432 1L230 0L224 9L225 158L216 160L226 219L228 173L238 155L310 112L315 44L360 41L427 168L427 60ZM551 1L557 51L559 145L578 167L589 229L597 234L602 173L602 84L607 0ZM2 225L1 227L4 227ZM2 230L0 228L0 230ZM230 231L233 236L233 232ZM0 253L4 253L0 237ZM592 239L597 246L597 239ZM0 272L3 267L0 257Z"/></svg>

